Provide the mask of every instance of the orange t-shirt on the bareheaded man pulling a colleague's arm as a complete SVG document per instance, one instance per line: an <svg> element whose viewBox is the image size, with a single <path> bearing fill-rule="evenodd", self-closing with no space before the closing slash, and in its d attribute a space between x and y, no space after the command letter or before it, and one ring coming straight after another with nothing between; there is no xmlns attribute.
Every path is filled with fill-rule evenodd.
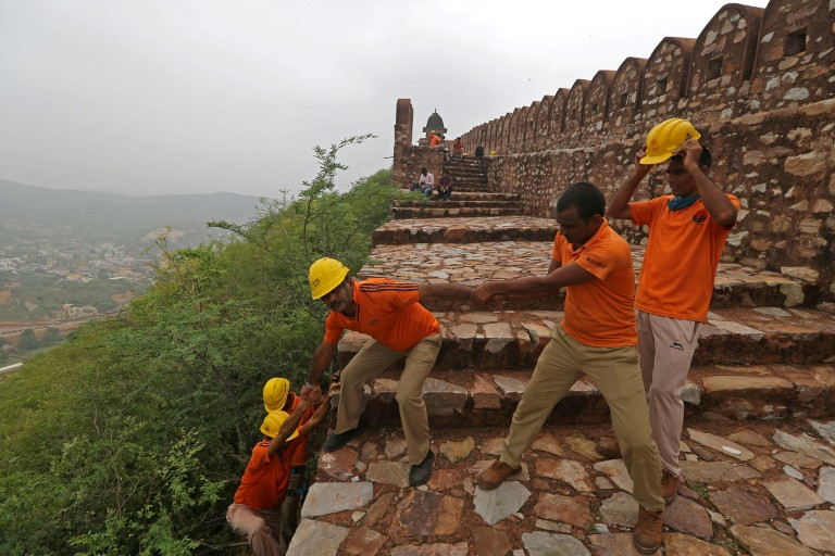
<svg viewBox="0 0 835 556"><path fill-rule="evenodd" d="M637 345L635 267L626 240L603 220L600 229L576 250L558 233L552 257L562 265L576 263L596 278L565 287L565 333L594 348Z"/></svg>

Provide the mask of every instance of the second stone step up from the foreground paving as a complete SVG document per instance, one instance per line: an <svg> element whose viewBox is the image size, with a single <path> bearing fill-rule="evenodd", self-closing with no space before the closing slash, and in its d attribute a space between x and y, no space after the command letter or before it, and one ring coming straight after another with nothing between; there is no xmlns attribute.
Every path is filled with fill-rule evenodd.
<svg viewBox="0 0 835 556"><path fill-rule="evenodd" d="M558 311L435 313L444 329L438 370L532 369L562 321ZM339 342L345 366L367 337L348 331ZM696 365L835 363L835 315L780 307L711 312L699 332Z"/></svg>

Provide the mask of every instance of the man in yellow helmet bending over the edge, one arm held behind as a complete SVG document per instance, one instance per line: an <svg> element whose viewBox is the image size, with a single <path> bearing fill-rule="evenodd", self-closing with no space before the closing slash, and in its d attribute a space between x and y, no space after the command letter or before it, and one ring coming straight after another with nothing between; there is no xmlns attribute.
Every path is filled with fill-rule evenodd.
<svg viewBox="0 0 835 556"><path fill-rule="evenodd" d="M360 432L365 384L406 357L396 399L412 465L409 483L418 486L429 480L435 460L429 450L423 383L441 342L438 320L420 301L469 300L472 288L454 283L416 286L387 278L353 280L348 273L350 269L335 258L320 258L310 266L313 299L321 299L331 313L301 396L315 400L321 394L319 380L334 358L345 329L371 336L373 340L341 371L336 429L322 446L325 452L339 450Z"/></svg>

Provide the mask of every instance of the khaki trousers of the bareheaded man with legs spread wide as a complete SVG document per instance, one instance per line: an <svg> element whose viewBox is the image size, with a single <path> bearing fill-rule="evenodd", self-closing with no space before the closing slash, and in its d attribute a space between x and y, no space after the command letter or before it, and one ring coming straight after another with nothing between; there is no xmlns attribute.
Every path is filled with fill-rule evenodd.
<svg viewBox="0 0 835 556"><path fill-rule="evenodd" d="M571 338L562 327L554 328L513 414L501 462L514 468L521 465L522 453L553 406L584 374L609 404L623 462L635 483L635 500L646 509L663 509L661 465L649 429L638 354L632 346L591 348Z"/></svg>

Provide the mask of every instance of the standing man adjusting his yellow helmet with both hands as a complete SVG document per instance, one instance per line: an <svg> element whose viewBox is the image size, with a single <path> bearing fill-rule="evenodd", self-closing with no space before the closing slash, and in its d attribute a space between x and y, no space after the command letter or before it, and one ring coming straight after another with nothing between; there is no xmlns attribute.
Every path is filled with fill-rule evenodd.
<svg viewBox="0 0 835 556"><path fill-rule="evenodd" d="M653 139L659 136L660 142ZM712 160L698 138L686 119L656 126L647 137L652 152L637 153L635 169L607 212L612 218L649 226L635 307L640 368L668 504L675 498L682 471L682 390L698 346L699 328L707 321L719 257L739 210L736 197L725 194L708 177ZM666 179L673 194L630 203L652 165L668 159ZM601 440L598 450L610 457L621 454L611 439Z"/></svg>

